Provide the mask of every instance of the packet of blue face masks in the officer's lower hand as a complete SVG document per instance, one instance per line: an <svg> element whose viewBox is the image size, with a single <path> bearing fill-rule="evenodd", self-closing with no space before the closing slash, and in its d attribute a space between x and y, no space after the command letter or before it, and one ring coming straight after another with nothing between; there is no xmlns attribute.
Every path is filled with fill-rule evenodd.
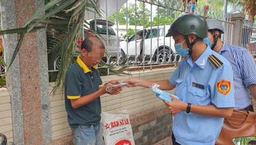
<svg viewBox="0 0 256 145"><path fill-rule="evenodd" d="M150 89L156 93L157 98L161 98L162 100L165 100L167 102L172 102L172 98L170 98L169 95L174 96L175 98L179 99L178 96L175 96L171 93L167 93L166 91L163 91L161 89L158 89L160 85L158 84L152 84L152 86L150 86Z"/></svg>

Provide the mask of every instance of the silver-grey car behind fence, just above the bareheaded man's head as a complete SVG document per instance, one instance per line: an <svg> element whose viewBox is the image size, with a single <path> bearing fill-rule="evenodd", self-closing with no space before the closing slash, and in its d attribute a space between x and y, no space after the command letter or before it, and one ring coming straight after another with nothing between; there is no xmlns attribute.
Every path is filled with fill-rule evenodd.
<svg viewBox="0 0 256 145"><path fill-rule="evenodd" d="M113 27L114 22L108 20L108 34L107 34L107 20L102 20L102 19L92 19L88 20L87 22L90 24L87 25L84 23L84 29L87 30L84 31L84 34L87 34L88 36L95 36L90 29L95 29L95 21L96 21L96 31L102 36L100 38L102 42L104 43L106 50L108 49L108 54L111 56L114 61L117 57L124 58L124 51L121 50L120 45L118 45L118 42L120 42L120 39L118 36L116 36L116 30L115 27ZM87 26L87 27L86 27ZM90 27L90 29L88 29ZM90 34L88 34L90 32ZM108 44L107 44L107 38L108 38ZM82 42L78 42L78 45L81 46ZM108 47L107 47L108 45ZM102 58L106 59L106 58ZM104 60L105 61L105 60Z"/></svg>

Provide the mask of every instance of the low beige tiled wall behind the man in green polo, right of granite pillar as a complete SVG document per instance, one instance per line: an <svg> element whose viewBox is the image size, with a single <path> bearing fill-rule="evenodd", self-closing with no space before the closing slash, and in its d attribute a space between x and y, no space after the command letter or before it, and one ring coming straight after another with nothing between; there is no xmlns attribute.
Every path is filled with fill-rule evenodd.
<svg viewBox="0 0 256 145"><path fill-rule="evenodd" d="M140 72L131 76L116 76L109 75L101 77L103 84L109 80L124 80L129 77L136 79L147 80L161 80L168 79L175 68L168 68L164 70ZM50 83L50 91L54 83ZM169 91L174 93L174 90ZM67 122L67 112L65 111L64 95L60 92L60 88L54 95L50 95L51 100L51 126L52 126L52 140L71 134L70 126ZM118 95L102 95L100 96L102 112L104 111L121 111L127 109L129 114L134 112L149 109L150 107L156 107L163 104L163 101L154 96L154 93L148 88L124 88L124 91Z"/></svg>

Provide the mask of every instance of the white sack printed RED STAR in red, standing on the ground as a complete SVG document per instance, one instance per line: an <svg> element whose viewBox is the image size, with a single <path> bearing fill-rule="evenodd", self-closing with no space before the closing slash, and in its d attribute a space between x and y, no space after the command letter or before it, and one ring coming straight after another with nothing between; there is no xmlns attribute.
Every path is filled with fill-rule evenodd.
<svg viewBox="0 0 256 145"><path fill-rule="evenodd" d="M105 145L135 145L127 110L102 112L100 123Z"/></svg>

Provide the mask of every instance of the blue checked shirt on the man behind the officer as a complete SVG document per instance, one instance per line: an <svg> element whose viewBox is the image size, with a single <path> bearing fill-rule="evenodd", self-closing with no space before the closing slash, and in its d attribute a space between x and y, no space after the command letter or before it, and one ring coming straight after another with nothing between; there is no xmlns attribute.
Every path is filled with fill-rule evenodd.
<svg viewBox="0 0 256 145"><path fill-rule="evenodd" d="M230 62L234 73L234 109L244 109L252 104L248 86L256 84L255 61L248 50L224 42L219 54Z"/></svg>

